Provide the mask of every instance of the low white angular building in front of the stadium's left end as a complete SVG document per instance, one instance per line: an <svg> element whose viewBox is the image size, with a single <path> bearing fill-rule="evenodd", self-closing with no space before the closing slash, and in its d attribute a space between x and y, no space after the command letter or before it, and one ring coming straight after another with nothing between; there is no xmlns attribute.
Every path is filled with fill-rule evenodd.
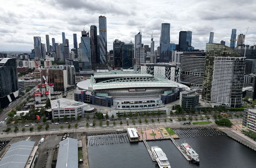
<svg viewBox="0 0 256 168"><path fill-rule="evenodd" d="M51 106L53 119L63 119L64 116L67 118L77 118L77 116L83 117L84 113L90 113L94 110L93 107L86 103L65 98L51 100Z"/></svg>

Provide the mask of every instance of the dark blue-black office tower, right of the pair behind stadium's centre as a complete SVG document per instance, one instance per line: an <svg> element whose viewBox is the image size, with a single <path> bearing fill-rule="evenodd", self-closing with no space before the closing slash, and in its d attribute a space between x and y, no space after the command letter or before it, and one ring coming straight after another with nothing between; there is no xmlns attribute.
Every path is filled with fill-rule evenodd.
<svg viewBox="0 0 256 168"><path fill-rule="evenodd" d="M134 44L124 43L122 45L122 68L128 69L133 67L133 54L134 54Z"/></svg>

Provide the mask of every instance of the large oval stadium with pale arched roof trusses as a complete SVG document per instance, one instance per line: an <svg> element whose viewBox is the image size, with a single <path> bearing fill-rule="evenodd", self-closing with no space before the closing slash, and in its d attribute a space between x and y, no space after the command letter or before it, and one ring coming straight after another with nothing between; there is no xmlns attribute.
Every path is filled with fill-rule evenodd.
<svg viewBox="0 0 256 168"><path fill-rule="evenodd" d="M179 99L184 87L161 74L113 70L78 82L75 100L114 109L157 108Z"/></svg>

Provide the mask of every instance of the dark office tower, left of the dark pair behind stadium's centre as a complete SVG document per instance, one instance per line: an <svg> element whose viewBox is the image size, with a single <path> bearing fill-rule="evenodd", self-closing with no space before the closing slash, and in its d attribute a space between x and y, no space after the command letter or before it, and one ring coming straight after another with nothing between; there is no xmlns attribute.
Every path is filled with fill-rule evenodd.
<svg viewBox="0 0 256 168"><path fill-rule="evenodd" d="M122 67L122 47L124 42L116 39L113 43L113 52L114 52L114 67L121 68Z"/></svg>

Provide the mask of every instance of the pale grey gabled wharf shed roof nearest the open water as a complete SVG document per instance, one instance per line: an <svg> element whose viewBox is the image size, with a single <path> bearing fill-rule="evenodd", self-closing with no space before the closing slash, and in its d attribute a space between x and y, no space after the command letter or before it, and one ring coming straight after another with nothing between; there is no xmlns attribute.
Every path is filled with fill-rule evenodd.
<svg viewBox="0 0 256 168"><path fill-rule="evenodd" d="M59 143L56 168L78 167L77 139L68 137Z"/></svg>

